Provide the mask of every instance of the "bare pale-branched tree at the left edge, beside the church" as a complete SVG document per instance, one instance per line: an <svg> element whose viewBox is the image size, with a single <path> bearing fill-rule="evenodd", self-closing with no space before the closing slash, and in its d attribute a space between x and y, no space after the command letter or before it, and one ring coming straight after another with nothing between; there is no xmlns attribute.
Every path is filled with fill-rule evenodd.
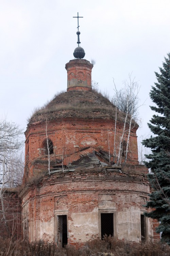
<svg viewBox="0 0 170 256"><path fill-rule="evenodd" d="M17 159L23 146L21 134L22 130L17 124L7 122L6 118L0 121L0 213L1 221L8 233L10 231L6 216L5 192L8 187L14 187L18 182L16 175L16 171L18 171Z"/></svg>

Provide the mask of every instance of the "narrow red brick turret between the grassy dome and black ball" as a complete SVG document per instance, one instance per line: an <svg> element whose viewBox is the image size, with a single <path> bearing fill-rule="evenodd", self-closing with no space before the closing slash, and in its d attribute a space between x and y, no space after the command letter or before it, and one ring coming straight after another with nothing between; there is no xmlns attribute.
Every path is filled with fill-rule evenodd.
<svg viewBox="0 0 170 256"><path fill-rule="evenodd" d="M91 90L91 70L93 65L86 59L70 60L66 64L67 91Z"/></svg>

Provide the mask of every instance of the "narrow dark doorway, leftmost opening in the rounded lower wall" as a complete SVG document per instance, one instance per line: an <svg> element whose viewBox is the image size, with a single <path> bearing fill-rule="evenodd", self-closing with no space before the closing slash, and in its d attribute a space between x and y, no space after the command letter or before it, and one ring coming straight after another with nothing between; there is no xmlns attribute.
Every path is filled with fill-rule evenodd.
<svg viewBox="0 0 170 256"><path fill-rule="evenodd" d="M58 240L62 247L67 245L67 215L58 216Z"/></svg>

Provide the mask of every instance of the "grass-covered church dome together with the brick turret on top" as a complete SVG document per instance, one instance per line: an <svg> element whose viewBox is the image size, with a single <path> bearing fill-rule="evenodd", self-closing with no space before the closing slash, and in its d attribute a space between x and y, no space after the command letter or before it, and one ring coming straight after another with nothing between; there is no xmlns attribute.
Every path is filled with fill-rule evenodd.
<svg viewBox="0 0 170 256"><path fill-rule="evenodd" d="M80 47L78 47L80 48ZM93 65L85 59L74 59L66 63L67 91L59 93L46 105L36 110L29 120L31 124L58 118L115 119L116 107L91 86ZM117 110L117 120L122 122L125 113Z"/></svg>

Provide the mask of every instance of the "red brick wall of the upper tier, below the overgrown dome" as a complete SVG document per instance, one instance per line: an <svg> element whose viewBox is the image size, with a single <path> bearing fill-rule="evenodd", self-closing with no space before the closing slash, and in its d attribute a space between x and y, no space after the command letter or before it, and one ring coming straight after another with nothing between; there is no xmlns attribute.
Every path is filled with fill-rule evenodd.
<svg viewBox="0 0 170 256"><path fill-rule="evenodd" d="M50 121L47 133L54 146L54 154L50 156L51 159L63 158L63 163L67 165L69 162L79 159L80 154L92 153L93 150L102 150L107 153L110 151L110 155L113 155L114 125L113 119L60 118ZM117 155L122 134L122 126L120 125L117 125L116 132ZM126 140L127 136L128 134L126 134ZM46 140L45 122L31 125L26 133L26 166L29 166L29 175L33 174L33 160L43 159L44 157L43 151L41 151L44 140ZM88 146L88 149L83 150L83 148ZM124 157L122 157L122 163L123 161ZM131 131L127 163L138 164L136 128ZM27 176L26 170L25 176Z"/></svg>

